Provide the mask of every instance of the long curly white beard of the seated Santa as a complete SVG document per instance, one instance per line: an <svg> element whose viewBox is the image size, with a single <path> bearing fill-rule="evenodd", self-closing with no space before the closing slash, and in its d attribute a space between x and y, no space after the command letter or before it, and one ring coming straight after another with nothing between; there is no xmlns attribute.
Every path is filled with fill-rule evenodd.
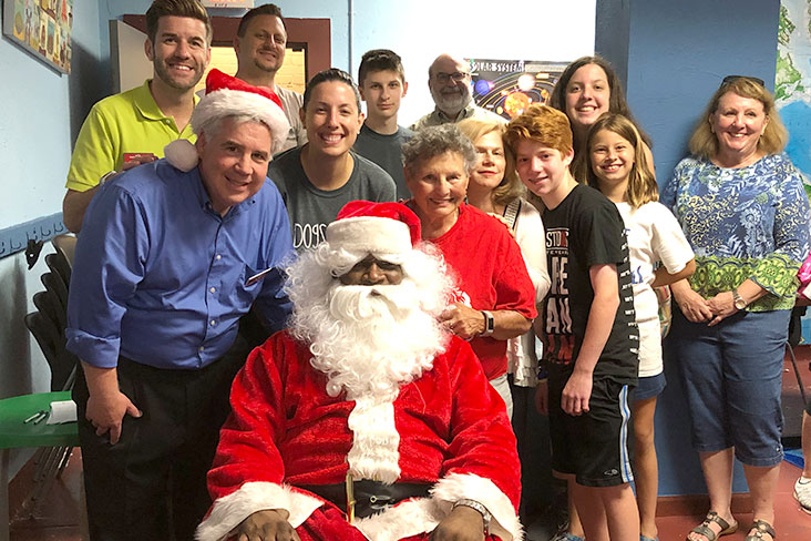
<svg viewBox="0 0 811 541"><path fill-rule="evenodd" d="M448 337L421 308L420 293L408 278L389 286L336 283L315 306L297 306L307 317L294 333L309 337L310 364L329 377L330 396L346 390L349 399L393 400L401 384L431 369Z"/></svg>

